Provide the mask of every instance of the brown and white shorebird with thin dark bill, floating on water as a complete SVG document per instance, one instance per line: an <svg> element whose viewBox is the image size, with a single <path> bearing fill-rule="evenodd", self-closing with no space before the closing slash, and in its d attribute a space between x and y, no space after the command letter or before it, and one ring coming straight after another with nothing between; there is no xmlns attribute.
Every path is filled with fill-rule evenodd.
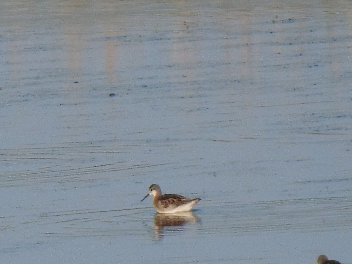
<svg viewBox="0 0 352 264"><path fill-rule="evenodd" d="M149 187L149 193L142 201L148 197L148 195L154 196L153 206L155 210L161 214L189 211L201 200L200 198L189 199L178 194L161 194L161 189L158 184L152 184Z"/></svg>

